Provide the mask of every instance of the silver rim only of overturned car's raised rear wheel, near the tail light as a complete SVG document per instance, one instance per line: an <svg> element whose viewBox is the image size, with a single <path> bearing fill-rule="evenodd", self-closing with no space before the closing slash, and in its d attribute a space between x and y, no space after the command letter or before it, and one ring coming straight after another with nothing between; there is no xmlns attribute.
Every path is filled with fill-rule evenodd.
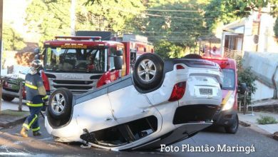
<svg viewBox="0 0 278 157"><path fill-rule="evenodd" d="M144 59L138 66L138 76L142 81L150 82L153 81L156 74L156 67L153 61Z"/></svg>

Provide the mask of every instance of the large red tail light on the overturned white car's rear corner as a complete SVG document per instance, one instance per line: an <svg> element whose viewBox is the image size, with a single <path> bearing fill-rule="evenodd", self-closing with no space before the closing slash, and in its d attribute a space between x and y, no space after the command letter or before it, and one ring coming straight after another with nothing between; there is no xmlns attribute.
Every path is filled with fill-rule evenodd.
<svg viewBox="0 0 278 157"><path fill-rule="evenodd" d="M168 101L178 101L185 94L186 82L176 83Z"/></svg>

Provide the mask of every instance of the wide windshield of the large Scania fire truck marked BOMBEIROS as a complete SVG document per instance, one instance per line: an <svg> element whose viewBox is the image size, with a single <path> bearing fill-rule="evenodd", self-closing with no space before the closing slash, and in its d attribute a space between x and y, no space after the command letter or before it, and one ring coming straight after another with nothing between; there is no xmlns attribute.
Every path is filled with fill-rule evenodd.
<svg viewBox="0 0 278 157"><path fill-rule="evenodd" d="M103 73L107 49L44 49L44 69L55 72Z"/></svg>

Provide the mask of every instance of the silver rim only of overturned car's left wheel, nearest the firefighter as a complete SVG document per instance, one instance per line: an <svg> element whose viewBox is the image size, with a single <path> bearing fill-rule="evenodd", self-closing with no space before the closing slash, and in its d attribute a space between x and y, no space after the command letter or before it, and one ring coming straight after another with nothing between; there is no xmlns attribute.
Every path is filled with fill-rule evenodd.
<svg viewBox="0 0 278 157"><path fill-rule="evenodd" d="M54 113L60 114L65 108L65 97L61 93L56 93L51 100L51 108Z"/></svg>

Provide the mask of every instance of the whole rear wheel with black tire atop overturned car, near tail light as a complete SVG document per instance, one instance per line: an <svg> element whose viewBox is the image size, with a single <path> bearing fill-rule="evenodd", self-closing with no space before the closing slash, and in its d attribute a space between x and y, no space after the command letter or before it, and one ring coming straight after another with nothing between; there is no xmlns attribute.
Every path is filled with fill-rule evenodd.
<svg viewBox="0 0 278 157"><path fill-rule="evenodd" d="M133 81L138 88L150 90L163 79L163 59L157 54L143 54L135 62Z"/></svg>

